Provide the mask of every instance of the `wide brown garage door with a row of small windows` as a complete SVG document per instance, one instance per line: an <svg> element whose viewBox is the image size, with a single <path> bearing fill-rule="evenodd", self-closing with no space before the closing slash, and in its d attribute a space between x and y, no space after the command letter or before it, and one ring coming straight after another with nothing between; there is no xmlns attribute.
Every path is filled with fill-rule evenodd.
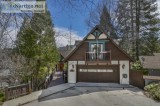
<svg viewBox="0 0 160 106"><path fill-rule="evenodd" d="M119 83L119 65L78 65L77 82Z"/></svg>

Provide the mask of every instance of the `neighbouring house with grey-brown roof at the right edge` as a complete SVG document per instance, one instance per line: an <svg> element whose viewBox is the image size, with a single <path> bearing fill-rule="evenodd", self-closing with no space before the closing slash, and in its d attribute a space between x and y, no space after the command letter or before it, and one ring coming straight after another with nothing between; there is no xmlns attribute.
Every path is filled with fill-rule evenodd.
<svg viewBox="0 0 160 106"><path fill-rule="evenodd" d="M148 70L148 75L160 76L160 53L153 56L139 56L139 60L144 69Z"/></svg>

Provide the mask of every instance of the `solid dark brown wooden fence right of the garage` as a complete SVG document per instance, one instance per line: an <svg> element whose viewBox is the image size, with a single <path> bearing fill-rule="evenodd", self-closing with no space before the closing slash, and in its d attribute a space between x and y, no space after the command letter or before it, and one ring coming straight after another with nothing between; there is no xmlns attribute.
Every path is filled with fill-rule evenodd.
<svg viewBox="0 0 160 106"><path fill-rule="evenodd" d="M143 79L143 72L130 70L129 72L130 84L143 89L145 81Z"/></svg>

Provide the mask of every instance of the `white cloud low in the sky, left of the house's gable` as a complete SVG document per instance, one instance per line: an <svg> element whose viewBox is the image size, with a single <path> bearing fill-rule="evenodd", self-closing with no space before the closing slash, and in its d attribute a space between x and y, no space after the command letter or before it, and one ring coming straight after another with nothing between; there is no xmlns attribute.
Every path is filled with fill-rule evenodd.
<svg viewBox="0 0 160 106"><path fill-rule="evenodd" d="M80 37L74 30L70 31L63 27L55 27L54 30L56 32L56 44L58 47L70 45L70 42L71 45L73 45L76 40L82 40L82 37Z"/></svg>

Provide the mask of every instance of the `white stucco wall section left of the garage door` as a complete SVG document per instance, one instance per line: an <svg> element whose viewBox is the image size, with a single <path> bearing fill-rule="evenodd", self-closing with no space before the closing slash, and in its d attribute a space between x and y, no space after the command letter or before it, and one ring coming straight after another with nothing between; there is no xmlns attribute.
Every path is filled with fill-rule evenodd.
<svg viewBox="0 0 160 106"><path fill-rule="evenodd" d="M76 65L77 61L68 61L68 83L76 83ZM74 71L71 72L71 70Z"/></svg>

